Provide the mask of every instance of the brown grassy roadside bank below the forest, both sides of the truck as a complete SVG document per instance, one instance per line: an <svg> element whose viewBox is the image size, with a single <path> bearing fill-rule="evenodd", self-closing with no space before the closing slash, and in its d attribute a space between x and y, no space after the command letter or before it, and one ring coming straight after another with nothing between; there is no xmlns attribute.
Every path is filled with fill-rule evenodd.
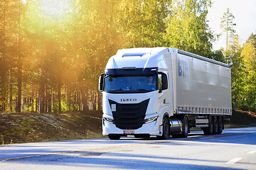
<svg viewBox="0 0 256 170"><path fill-rule="evenodd" d="M78 140L102 136L102 113L0 115L0 145ZM233 111L230 128L256 126L256 113Z"/></svg>

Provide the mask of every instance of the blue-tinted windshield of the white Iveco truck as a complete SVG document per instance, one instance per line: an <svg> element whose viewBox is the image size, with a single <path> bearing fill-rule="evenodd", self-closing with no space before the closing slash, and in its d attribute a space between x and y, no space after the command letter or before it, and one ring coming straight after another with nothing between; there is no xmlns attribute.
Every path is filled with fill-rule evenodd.
<svg viewBox="0 0 256 170"><path fill-rule="evenodd" d="M105 77L105 91L107 92L148 92L157 89L157 74L125 74L107 75Z"/></svg>

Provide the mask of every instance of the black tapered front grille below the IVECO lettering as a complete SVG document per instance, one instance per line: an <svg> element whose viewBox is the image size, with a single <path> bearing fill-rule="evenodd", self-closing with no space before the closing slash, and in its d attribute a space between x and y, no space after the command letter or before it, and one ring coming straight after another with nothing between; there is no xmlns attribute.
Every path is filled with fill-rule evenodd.
<svg viewBox="0 0 256 170"><path fill-rule="evenodd" d="M109 100L110 106L116 105L116 111L112 111L114 124L123 130L136 130L142 127L146 115L149 99L136 104L120 104Z"/></svg>

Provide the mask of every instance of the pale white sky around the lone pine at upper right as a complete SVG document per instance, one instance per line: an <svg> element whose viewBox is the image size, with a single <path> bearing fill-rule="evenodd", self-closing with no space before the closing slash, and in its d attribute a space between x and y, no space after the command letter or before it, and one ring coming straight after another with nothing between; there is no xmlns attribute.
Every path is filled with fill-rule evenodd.
<svg viewBox="0 0 256 170"><path fill-rule="evenodd" d="M230 8L230 13L235 16L233 28L239 35L240 42L245 42L252 33L256 33L256 0L213 0L212 8L208 9L208 24L215 34L222 33L220 18ZM225 35L221 35L217 42L213 42L213 50L225 50Z"/></svg>

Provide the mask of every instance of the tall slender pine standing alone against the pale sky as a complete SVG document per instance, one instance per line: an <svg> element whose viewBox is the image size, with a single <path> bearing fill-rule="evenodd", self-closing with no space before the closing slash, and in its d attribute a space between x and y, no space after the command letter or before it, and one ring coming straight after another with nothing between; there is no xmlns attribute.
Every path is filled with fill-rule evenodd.
<svg viewBox="0 0 256 170"><path fill-rule="evenodd" d="M236 26L236 24L233 23L234 18L235 16L230 13L230 8L227 8L227 11L223 13L223 17L220 21L220 28L226 33L226 50L228 49L228 40L234 37L235 30L233 29L233 26Z"/></svg>

